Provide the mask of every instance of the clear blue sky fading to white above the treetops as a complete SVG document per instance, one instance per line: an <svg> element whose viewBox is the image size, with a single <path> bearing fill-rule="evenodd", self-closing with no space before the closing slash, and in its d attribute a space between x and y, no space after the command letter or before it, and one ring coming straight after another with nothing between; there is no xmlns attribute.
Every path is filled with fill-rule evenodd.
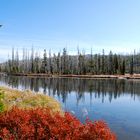
<svg viewBox="0 0 140 140"><path fill-rule="evenodd" d="M11 49L140 51L140 0L0 0L0 61Z"/></svg>

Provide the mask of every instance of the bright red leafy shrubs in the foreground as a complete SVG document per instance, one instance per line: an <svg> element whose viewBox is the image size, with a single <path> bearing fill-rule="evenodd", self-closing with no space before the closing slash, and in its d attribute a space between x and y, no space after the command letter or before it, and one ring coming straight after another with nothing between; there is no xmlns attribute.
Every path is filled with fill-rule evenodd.
<svg viewBox="0 0 140 140"><path fill-rule="evenodd" d="M70 113L48 109L13 108L0 114L0 138L4 140L115 140L103 121L82 124Z"/></svg>

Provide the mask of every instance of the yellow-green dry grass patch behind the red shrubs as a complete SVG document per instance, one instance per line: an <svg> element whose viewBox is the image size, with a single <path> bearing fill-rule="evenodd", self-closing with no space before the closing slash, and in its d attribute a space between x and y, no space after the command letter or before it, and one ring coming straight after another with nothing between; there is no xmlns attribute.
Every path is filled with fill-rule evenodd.
<svg viewBox="0 0 140 140"><path fill-rule="evenodd" d="M0 87L0 93L3 93L1 102L4 104L4 110L10 110L13 106L22 109L31 108L49 108L53 112L61 112L60 104L50 96L31 91L19 91L7 87Z"/></svg>

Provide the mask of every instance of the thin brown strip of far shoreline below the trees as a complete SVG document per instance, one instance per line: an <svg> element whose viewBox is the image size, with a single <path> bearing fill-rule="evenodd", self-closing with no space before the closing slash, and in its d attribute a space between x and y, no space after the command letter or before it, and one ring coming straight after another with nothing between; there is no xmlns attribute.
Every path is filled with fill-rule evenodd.
<svg viewBox="0 0 140 140"><path fill-rule="evenodd" d="M88 79L140 79L140 74L125 74L125 75L74 75L74 74L66 74L66 75L52 75L52 74L44 74L44 73L33 73L33 74L24 74L24 73L0 73L0 75L4 76L26 76L26 77L40 77L40 78L88 78Z"/></svg>

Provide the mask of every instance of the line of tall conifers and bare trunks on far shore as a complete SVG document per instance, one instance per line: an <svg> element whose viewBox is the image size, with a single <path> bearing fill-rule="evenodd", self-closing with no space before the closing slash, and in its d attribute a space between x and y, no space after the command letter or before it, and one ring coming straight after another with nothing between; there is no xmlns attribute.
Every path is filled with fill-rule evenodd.
<svg viewBox="0 0 140 140"><path fill-rule="evenodd" d="M85 54L78 50L77 55L69 55L64 48L60 53L47 53L43 56L39 52L23 49L22 58L18 50L12 49L12 57L0 64L0 71L6 73L45 73L45 74L133 74L140 73L140 54L120 55L109 52L105 54Z"/></svg>

